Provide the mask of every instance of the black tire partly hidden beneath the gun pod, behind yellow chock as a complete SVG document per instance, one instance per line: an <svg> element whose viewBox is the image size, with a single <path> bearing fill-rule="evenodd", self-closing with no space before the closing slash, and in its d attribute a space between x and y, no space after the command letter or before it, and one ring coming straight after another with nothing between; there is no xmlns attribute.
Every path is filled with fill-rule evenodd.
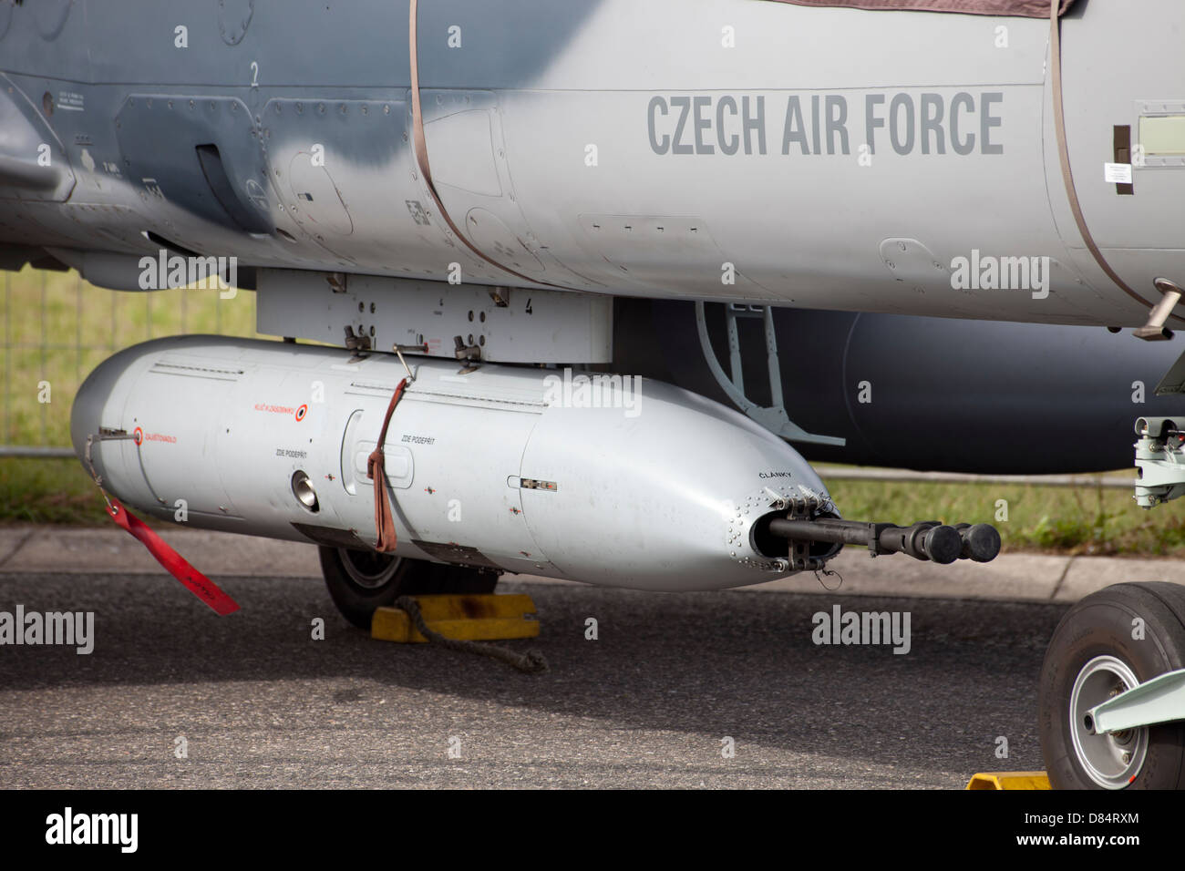
<svg viewBox="0 0 1185 871"><path fill-rule="evenodd" d="M377 608L404 595L493 593L500 572L406 559L377 551L319 547L321 575L341 616L370 629Z"/></svg>

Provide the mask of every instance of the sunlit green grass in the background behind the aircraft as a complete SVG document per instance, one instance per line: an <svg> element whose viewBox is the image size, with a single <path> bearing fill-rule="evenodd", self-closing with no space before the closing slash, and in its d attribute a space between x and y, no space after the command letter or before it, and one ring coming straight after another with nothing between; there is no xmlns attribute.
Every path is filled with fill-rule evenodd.
<svg viewBox="0 0 1185 871"><path fill-rule="evenodd" d="M91 369L120 348L181 333L254 337L255 294L217 290L118 293L76 273L0 273L4 384L0 442L70 443L70 404ZM38 402L38 384L51 386ZM1134 476L1133 473L1128 473ZM831 481L844 517L858 520L993 523L1011 551L1185 555L1176 505L1145 512L1125 491L1020 485ZM995 519L997 500L1008 519ZM0 459L0 524L110 523L76 460Z"/></svg>

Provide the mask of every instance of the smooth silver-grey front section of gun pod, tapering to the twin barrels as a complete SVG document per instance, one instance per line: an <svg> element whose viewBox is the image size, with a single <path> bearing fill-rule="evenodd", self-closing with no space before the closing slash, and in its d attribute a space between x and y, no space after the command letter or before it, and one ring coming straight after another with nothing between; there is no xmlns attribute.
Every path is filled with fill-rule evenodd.
<svg viewBox="0 0 1185 871"><path fill-rule="evenodd" d="M786 442L660 382L624 379L626 398L609 408L603 397L602 408L582 405L578 386L551 388L523 455L523 510L557 568L665 590L788 574L754 549L752 525L780 498L827 491Z"/></svg>

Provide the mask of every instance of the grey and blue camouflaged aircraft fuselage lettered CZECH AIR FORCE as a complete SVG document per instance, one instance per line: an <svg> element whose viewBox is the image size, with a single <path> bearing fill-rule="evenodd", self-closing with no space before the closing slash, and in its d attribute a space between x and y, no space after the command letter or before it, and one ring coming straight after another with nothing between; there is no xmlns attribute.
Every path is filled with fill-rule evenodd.
<svg viewBox="0 0 1185 871"><path fill-rule="evenodd" d="M494 162L480 178L456 171L472 124L428 136L428 162L434 150L442 172L451 161L434 196L412 148L408 4L59 6L12 9L0 68L13 92L0 100L43 109L75 188L62 205L0 191L0 243L134 263L159 250L152 231L241 265L443 280L456 264L474 283L1115 326L1146 320L1152 277L1185 282L1185 167L1138 168L1134 197L1100 180L1113 127L1139 135L1139 101L1185 100L1165 91L1183 88L1174 0L1148 0L1110 77L1093 58L1126 6L1095 0L1063 23L1080 196L1140 300L1068 219L1040 19L737 0L417 4L423 121L476 94L491 113L480 145ZM231 107L246 117L217 120ZM146 120L167 111L197 120L181 137ZM220 155L248 223L274 229L244 232L243 212L201 188L200 147ZM1048 258L1046 286L960 286L955 274L984 258Z"/></svg>

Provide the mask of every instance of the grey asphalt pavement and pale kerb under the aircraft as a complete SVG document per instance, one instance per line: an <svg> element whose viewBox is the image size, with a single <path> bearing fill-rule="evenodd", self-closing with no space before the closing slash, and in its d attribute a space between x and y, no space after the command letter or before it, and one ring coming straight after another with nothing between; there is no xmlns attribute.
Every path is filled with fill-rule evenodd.
<svg viewBox="0 0 1185 871"><path fill-rule="evenodd" d="M501 643L551 666L527 675L350 627L312 546L164 534L242 610L216 616L118 530L0 530L0 611L95 614L90 654L0 647L0 788L961 788L1042 768L1037 680L1072 601L1185 582L1168 561L943 568L856 549L834 591L517 577L499 590L534 597L540 636ZM835 607L908 615L909 652L815 643Z"/></svg>

